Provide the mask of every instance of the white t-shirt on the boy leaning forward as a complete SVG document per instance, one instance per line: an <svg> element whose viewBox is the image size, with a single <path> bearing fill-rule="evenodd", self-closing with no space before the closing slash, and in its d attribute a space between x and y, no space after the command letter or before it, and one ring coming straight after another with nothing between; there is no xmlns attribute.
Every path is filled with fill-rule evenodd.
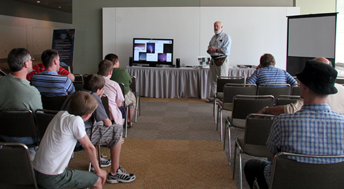
<svg viewBox="0 0 344 189"><path fill-rule="evenodd" d="M63 173L69 163L78 139L86 135L80 116L60 111L50 122L34 157L36 171L45 175Z"/></svg>

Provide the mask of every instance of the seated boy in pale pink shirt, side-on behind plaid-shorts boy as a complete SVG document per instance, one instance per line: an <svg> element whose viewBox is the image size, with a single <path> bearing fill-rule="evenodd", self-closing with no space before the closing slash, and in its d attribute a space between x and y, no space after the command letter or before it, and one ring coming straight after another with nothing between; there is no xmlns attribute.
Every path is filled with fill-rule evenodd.
<svg viewBox="0 0 344 189"><path fill-rule="evenodd" d="M116 81L110 80L113 64L109 60L102 60L98 64L98 73L105 79L104 94L109 97L110 119L114 123L123 125L124 114L120 111L122 102L125 101L120 85Z"/></svg>

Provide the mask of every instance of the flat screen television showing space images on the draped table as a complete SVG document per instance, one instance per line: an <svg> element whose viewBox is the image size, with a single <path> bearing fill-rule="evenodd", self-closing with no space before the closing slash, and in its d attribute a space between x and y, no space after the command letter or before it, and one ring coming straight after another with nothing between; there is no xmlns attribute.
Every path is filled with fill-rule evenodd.
<svg viewBox="0 0 344 189"><path fill-rule="evenodd" d="M173 39L133 38L133 64L173 64Z"/></svg>

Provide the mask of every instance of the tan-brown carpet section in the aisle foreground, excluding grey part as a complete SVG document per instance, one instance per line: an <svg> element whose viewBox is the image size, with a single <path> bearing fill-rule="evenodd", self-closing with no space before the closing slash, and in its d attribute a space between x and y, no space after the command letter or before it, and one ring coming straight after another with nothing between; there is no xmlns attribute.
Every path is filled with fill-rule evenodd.
<svg viewBox="0 0 344 189"><path fill-rule="evenodd" d="M109 157L109 149L102 147L101 153ZM236 188L228 179L230 167L219 141L126 138L120 164L136 180L103 188ZM80 151L69 168L87 170L87 165L87 155Z"/></svg>

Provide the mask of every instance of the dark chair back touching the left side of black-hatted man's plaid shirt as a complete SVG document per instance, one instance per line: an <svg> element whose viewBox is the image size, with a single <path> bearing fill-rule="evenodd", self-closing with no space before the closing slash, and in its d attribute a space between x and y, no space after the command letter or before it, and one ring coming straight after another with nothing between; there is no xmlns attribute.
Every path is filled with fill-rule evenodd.
<svg viewBox="0 0 344 189"><path fill-rule="evenodd" d="M256 118L259 116L259 118ZM266 140L270 135L271 125L277 116L268 114L249 114L246 117L246 127L244 135L245 144L266 146Z"/></svg>

